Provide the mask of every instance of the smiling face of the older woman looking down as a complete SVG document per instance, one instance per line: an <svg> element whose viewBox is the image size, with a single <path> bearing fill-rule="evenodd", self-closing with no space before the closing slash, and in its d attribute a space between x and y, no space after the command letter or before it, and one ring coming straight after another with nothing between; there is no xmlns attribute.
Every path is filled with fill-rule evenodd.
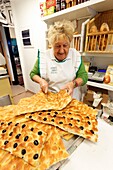
<svg viewBox="0 0 113 170"><path fill-rule="evenodd" d="M59 39L53 45L54 56L57 60L62 61L64 60L69 52L70 43L68 39Z"/></svg>

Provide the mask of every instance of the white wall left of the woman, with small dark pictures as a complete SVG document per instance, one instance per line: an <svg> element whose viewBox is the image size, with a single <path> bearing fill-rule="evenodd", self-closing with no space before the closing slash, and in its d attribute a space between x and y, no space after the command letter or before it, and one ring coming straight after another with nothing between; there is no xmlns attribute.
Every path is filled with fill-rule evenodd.
<svg viewBox="0 0 113 170"><path fill-rule="evenodd" d="M24 85L26 90L37 92L39 86L31 81L29 73L37 58L38 48L45 49L46 24L41 21L38 0L12 0L12 14L15 34L22 66ZM24 47L21 31L30 29L31 47Z"/></svg>

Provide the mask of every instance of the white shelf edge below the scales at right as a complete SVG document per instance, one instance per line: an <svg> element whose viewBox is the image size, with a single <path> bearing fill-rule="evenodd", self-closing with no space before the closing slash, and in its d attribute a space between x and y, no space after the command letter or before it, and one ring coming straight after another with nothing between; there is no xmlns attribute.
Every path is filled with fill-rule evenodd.
<svg viewBox="0 0 113 170"><path fill-rule="evenodd" d="M113 86L110 86L110 85L104 84L104 83L96 83L96 82L88 81L87 85L113 91Z"/></svg>

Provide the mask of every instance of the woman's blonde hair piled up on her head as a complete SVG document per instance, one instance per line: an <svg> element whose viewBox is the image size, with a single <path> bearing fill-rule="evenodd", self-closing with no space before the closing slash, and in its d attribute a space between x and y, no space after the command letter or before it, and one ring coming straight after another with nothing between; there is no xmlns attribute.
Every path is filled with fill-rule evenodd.
<svg viewBox="0 0 113 170"><path fill-rule="evenodd" d="M74 25L71 21L57 21L51 25L48 30L49 44L53 45L59 39L68 39L69 42L73 39Z"/></svg>

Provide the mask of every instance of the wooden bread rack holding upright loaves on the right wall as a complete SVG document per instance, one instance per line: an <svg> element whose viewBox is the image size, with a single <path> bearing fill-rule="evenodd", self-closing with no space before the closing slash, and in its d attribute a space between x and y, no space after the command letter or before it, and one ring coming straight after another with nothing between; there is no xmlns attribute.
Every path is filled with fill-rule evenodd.
<svg viewBox="0 0 113 170"><path fill-rule="evenodd" d="M113 9L97 14L87 23L85 51L113 53Z"/></svg>

